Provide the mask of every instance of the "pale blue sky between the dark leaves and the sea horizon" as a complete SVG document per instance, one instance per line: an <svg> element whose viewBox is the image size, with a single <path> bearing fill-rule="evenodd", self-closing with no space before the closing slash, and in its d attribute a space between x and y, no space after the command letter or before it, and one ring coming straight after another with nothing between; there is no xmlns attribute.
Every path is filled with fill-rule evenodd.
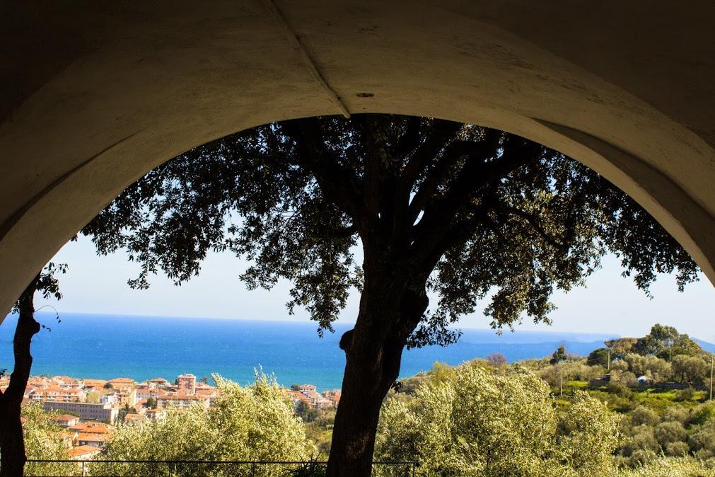
<svg viewBox="0 0 715 477"><path fill-rule="evenodd" d="M118 253L98 257L92 242L80 237L69 242L53 259L69 264L61 277L64 299L49 302L60 312L164 315L258 320L307 320L304 310L290 317L285 310L290 285L280 283L274 290L248 291L238 280L245 262L229 254L212 254L204 262L199 277L174 287L166 277L153 277L149 290L132 290L127 279L135 277L137 265ZM582 331L644 335L654 323L674 325L696 338L715 342L715 288L706 277L692 283L684 293L676 290L674 277L663 275L654 284L653 300L637 290L631 280L621 277L615 257L606 257L603 268L588 280L586 288L558 293L558 306L551 316L553 325L525 321L519 329ZM44 305L38 300L37 305ZM340 321L354 322L358 295L353 293ZM488 328L481 312L462 320L463 328Z"/></svg>

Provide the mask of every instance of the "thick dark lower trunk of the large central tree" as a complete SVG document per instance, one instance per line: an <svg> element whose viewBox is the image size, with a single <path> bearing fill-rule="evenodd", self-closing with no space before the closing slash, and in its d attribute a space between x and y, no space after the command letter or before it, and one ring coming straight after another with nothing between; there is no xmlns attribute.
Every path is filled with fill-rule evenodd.
<svg viewBox="0 0 715 477"><path fill-rule="evenodd" d="M400 374L406 340L427 303L423 292L415 294L393 280L370 280L366 274L355 329L340 340L345 375L328 477L370 477L380 407Z"/></svg>

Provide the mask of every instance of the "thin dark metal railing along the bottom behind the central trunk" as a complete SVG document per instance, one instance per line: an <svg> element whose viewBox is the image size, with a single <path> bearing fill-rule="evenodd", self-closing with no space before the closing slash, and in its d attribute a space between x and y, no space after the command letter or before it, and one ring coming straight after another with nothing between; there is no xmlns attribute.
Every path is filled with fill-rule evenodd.
<svg viewBox="0 0 715 477"><path fill-rule="evenodd" d="M41 466L33 469L31 464L66 464L66 475L83 477L101 477L104 475L151 475L151 476L240 476L274 477L300 475L308 477L310 473L296 473L298 470L327 467L327 461L139 461L112 459L27 459L28 475L41 476ZM122 473L120 466L126 465L127 473ZM384 477L414 477L418 468L417 461L373 461L373 474ZM102 473L102 468L109 473ZM378 469L375 473L375 469ZM35 473L34 471L39 471ZM57 469L53 468L52 475ZM98 473L99 471L99 473ZM318 474L316 474L318 475ZM322 475L322 474L320 474Z"/></svg>

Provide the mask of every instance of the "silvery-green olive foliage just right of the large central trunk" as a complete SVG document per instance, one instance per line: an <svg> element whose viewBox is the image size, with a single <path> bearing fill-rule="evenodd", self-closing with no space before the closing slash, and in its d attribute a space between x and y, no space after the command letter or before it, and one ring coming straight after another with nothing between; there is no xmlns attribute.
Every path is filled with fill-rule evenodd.
<svg viewBox="0 0 715 477"><path fill-rule="evenodd" d="M527 370L462 365L383 406L375 454L420 461L419 476L596 476L610 471L617 418L577 395L558 415L546 383Z"/></svg>

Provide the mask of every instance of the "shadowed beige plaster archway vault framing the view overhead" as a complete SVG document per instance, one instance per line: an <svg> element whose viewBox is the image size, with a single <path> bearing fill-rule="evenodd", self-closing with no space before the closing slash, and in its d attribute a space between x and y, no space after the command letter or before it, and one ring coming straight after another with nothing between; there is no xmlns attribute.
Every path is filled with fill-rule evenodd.
<svg viewBox="0 0 715 477"><path fill-rule="evenodd" d="M676 19L690 38L673 45L669 36L670 46L656 28L667 18L673 31L666 2L623 24L594 16L593 6L526 1L513 2L516 16L489 2L319 3L281 6L351 112L475 122L561 150L644 205L715 281L709 2ZM11 48L24 39L23 21L50 52L67 41L66 29L82 33L71 51L54 52L59 59L30 51L26 65L0 77L0 86L21 86L0 110L0 266L13 271L0 275L5 309L74 232L152 167L257 124L339 112L260 4L99 5L67 6L34 30L21 11L28 7L4 7L17 9L2 16L15 21L1 30L14 34L4 38ZM548 31L539 26L559 16L566 19ZM569 19L580 32L607 26L611 35L556 41L573 33ZM633 38L636 27L648 41ZM665 59L651 62L644 44L663 46ZM664 73L687 79L687 94L664 94Z"/></svg>

